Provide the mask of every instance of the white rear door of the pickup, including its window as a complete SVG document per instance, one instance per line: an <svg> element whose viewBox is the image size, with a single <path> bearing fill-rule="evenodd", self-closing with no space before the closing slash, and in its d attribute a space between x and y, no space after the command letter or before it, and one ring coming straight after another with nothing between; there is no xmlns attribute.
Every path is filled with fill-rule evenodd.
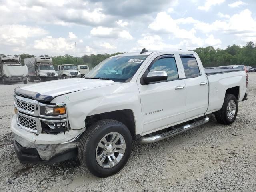
<svg viewBox="0 0 256 192"><path fill-rule="evenodd" d="M199 58L194 54L180 54L185 73L186 119L203 116L208 108L208 80Z"/></svg>

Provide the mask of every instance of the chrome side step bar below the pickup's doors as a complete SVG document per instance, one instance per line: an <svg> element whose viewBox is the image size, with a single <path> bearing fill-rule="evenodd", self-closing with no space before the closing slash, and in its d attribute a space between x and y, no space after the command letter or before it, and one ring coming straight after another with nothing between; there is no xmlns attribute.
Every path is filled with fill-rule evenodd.
<svg viewBox="0 0 256 192"><path fill-rule="evenodd" d="M205 118L203 118L201 120L198 120L198 121L196 121L194 123L184 125L184 126L182 126L180 128L176 128L174 130L170 130L170 131L162 133L162 134L154 135L154 136L151 136L151 137L142 136L140 138L140 142L144 143L144 144L157 142L157 141L166 139L168 137L174 136L176 134L180 134L180 133L182 133L182 132L184 132L186 130L192 129L194 127L197 127L197 126L200 126L202 124L205 124L208 121L209 121L209 118L206 116Z"/></svg>

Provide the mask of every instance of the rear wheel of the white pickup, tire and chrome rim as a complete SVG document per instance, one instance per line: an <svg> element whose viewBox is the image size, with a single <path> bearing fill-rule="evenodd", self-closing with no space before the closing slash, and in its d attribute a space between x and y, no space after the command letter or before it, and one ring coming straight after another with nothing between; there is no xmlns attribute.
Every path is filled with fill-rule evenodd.
<svg viewBox="0 0 256 192"><path fill-rule="evenodd" d="M234 103L232 101L234 101ZM235 106L235 112L234 110L231 109L232 115L228 113L228 110L230 110L228 108L229 103L232 103L233 106ZM215 113L215 118L220 124L230 125L236 120L237 112L238 112L238 104L237 104L236 97L233 94L226 94L222 108Z"/></svg>

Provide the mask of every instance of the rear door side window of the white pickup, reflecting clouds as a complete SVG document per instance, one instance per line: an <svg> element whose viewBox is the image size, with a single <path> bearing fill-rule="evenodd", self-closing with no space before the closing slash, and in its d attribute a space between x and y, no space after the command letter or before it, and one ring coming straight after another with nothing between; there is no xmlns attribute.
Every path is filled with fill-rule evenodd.
<svg viewBox="0 0 256 192"><path fill-rule="evenodd" d="M180 54L186 78L200 75L196 58L192 54Z"/></svg>

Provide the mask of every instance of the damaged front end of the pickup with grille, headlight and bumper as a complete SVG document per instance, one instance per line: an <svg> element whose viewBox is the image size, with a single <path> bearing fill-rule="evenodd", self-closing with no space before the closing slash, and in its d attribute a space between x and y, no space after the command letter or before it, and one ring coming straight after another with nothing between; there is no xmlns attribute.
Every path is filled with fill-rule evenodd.
<svg viewBox="0 0 256 192"><path fill-rule="evenodd" d="M82 130L71 130L64 103L39 102L16 93L14 111L11 130L21 163L52 164L77 156Z"/></svg>

